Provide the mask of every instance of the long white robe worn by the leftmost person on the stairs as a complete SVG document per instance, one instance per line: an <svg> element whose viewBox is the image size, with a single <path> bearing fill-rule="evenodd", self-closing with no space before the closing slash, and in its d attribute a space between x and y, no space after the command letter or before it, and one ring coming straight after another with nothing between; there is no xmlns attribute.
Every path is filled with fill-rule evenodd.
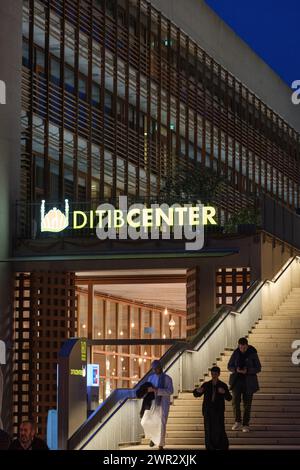
<svg viewBox="0 0 300 470"><path fill-rule="evenodd" d="M150 438L155 445L162 447L165 445L166 427L170 409L170 397L174 392L171 377L167 374L164 375L164 388L159 388L156 392L156 395L161 397L161 403L160 405L157 405L155 401L153 401L151 409L145 411L141 421L143 427L146 423L146 427L144 427L146 437ZM157 388L159 375L151 374L148 377L147 382L151 382L153 387Z"/></svg>

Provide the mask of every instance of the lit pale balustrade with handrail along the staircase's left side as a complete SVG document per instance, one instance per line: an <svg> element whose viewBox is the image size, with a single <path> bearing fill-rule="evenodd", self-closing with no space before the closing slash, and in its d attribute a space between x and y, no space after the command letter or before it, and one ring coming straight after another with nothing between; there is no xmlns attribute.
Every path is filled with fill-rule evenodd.
<svg viewBox="0 0 300 470"><path fill-rule="evenodd" d="M260 318L273 314L293 287L300 287L297 257L290 259L273 280L253 283L234 309L221 307L188 343L170 348L161 360L173 379L174 395L192 390L216 358L225 349L234 348L237 339L248 335ZM120 443L139 442L140 402L135 392L148 374L133 389L115 390L69 439L68 448L113 450Z"/></svg>

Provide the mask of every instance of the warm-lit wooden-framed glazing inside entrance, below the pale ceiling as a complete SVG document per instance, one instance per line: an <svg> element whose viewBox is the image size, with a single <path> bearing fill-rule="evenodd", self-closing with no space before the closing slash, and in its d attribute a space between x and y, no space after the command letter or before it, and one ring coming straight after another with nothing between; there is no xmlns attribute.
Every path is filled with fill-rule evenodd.
<svg viewBox="0 0 300 470"><path fill-rule="evenodd" d="M184 338L185 312L146 308L142 304L114 299L101 293L101 286L93 286L92 326L88 325L88 287L77 287L78 335L92 331L95 340ZM171 332L169 321L175 321ZM150 369L151 361L160 358L170 346L164 345L105 345L93 346L92 361L100 367L99 399L105 399L117 387L131 388Z"/></svg>

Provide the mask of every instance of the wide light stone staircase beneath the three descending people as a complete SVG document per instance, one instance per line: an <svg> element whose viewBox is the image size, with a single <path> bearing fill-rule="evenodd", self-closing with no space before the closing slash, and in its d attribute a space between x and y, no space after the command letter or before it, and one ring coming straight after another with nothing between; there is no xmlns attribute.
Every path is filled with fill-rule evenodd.
<svg viewBox="0 0 300 470"><path fill-rule="evenodd" d="M226 402L225 426L231 448L300 449L300 367L291 362L295 339L300 339L300 288L292 289L275 314L264 316L249 332L249 344L257 348L262 364L260 390L253 398L250 433L231 430L234 417L231 403ZM215 363L226 383L231 353L225 350ZM209 374L195 385L206 380L210 380ZM147 443L143 439L141 444ZM202 398L194 398L191 391L179 393L171 405L166 446L204 447Z"/></svg>

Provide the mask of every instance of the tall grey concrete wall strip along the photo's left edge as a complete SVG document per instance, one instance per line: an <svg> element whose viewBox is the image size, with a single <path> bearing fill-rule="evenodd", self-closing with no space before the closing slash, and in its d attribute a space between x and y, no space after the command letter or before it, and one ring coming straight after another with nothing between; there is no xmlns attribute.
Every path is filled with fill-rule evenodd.
<svg viewBox="0 0 300 470"><path fill-rule="evenodd" d="M13 274L5 260L11 254L13 201L18 198L20 163L22 1L0 2L0 80L6 84L6 104L0 104L0 339L7 350L2 420L10 431L12 384Z"/></svg>

